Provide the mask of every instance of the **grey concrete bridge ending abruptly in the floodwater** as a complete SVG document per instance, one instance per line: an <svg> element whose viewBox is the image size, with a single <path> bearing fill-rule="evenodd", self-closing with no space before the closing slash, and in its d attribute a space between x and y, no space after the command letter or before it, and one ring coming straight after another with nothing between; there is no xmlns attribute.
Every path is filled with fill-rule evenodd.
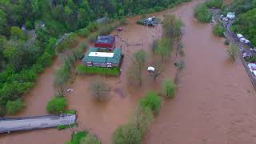
<svg viewBox="0 0 256 144"><path fill-rule="evenodd" d="M0 133L21 130L37 130L60 125L72 125L76 122L75 114L43 115L24 118L0 118Z"/></svg>

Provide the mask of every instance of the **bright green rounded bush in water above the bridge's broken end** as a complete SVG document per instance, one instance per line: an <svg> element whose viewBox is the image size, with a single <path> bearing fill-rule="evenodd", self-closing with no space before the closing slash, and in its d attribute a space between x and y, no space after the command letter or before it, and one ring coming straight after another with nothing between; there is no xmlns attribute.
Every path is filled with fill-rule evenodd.
<svg viewBox="0 0 256 144"><path fill-rule="evenodd" d="M50 114L60 114L66 110L66 106L66 98L57 96L50 99L50 102L47 103L46 110Z"/></svg>

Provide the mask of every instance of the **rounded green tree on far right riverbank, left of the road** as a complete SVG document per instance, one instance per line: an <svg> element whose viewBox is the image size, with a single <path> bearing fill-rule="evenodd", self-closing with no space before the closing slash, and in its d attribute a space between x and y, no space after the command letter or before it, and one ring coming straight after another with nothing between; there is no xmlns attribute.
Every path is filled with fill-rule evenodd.
<svg viewBox="0 0 256 144"><path fill-rule="evenodd" d="M198 4L194 7L194 17L198 19L198 22L210 22L212 14L208 10L205 4Z"/></svg>

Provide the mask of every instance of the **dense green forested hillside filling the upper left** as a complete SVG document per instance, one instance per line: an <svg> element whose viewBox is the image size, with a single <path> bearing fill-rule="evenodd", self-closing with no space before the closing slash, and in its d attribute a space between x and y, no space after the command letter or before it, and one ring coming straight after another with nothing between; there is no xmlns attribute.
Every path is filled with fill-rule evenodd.
<svg viewBox="0 0 256 144"><path fill-rule="evenodd" d="M1 0L0 115L50 66L56 39L97 18L164 10L188 0ZM8 105L8 106L11 106Z"/></svg>

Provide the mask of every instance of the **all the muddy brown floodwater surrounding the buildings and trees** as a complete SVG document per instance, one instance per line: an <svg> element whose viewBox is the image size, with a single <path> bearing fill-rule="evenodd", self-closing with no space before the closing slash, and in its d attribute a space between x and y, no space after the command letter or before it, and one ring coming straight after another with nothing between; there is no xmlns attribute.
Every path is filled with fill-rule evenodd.
<svg viewBox="0 0 256 144"><path fill-rule="evenodd" d="M194 21L192 10L196 3L198 1L155 14L162 17L174 13L186 24L183 39L186 69L182 72L176 98L163 102L161 113L155 118L144 143L254 143L256 94L250 79L240 61L230 62L223 39L211 34L211 26ZM102 78L111 87L109 102L94 102L90 97L88 87L96 76L78 76L69 87L74 92L66 95L69 108L78 110L78 127L74 130L89 130L97 134L103 144L110 143L118 125L129 121L138 98L146 90L160 90L163 78L174 78L174 58L168 58L166 70L157 82L145 72L141 89L127 86L126 70L132 54L140 49L149 52L153 39L159 38L162 31L161 26L153 29L136 25L138 18L130 18L121 33L113 33L130 44L143 44L126 46L117 38L117 46L122 46L125 58L119 78ZM26 110L18 116L46 114L46 103L54 95L54 70L61 63L55 60L53 66L39 76L37 85L25 95ZM149 61L147 66L151 63ZM71 133L70 129L49 129L1 134L0 143L58 144L70 140Z"/></svg>

